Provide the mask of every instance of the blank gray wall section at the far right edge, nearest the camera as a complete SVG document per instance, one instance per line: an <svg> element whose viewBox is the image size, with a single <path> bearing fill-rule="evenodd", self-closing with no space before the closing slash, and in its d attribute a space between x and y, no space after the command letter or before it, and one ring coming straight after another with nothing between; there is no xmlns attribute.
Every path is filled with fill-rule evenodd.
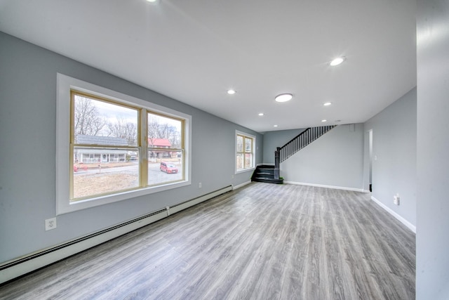
<svg viewBox="0 0 449 300"><path fill-rule="evenodd" d="M449 299L449 1L417 8L417 299Z"/></svg>

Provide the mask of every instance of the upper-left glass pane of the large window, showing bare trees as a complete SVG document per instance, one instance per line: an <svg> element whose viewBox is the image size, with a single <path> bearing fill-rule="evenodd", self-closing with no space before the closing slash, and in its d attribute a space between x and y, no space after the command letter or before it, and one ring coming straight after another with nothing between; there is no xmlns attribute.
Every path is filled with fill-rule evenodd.
<svg viewBox="0 0 449 300"><path fill-rule="evenodd" d="M81 95L74 96L74 142L138 145L138 110Z"/></svg>

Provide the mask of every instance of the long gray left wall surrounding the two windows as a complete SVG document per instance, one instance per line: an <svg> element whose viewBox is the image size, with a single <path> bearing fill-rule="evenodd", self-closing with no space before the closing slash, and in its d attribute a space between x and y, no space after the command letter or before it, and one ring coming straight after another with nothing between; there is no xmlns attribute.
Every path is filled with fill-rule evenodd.
<svg viewBox="0 0 449 300"><path fill-rule="evenodd" d="M234 175L236 129L256 136L262 162L260 133L2 32L0 45L0 263L249 181L251 172ZM192 115L192 185L64 214L45 231L55 216L57 72Z"/></svg>

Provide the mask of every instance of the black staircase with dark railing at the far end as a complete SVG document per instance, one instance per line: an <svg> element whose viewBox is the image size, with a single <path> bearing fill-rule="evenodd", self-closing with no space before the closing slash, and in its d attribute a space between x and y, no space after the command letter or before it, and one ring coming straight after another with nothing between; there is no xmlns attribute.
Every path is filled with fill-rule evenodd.
<svg viewBox="0 0 449 300"><path fill-rule="evenodd" d="M274 152L274 166L257 166L251 177L251 181L277 184L283 183L283 178L279 177L279 164L315 141L324 133L330 131L330 129L333 129L335 126L337 125L309 127L302 131L302 133L295 136L295 138L286 143L286 145L277 148Z"/></svg>

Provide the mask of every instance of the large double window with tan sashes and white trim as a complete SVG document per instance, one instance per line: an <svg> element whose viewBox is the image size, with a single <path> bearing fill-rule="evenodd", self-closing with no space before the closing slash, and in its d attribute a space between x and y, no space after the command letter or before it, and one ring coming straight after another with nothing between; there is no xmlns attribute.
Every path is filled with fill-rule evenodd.
<svg viewBox="0 0 449 300"><path fill-rule="evenodd" d="M190 184L191 117L58 74L57 213Z"/></svg>

